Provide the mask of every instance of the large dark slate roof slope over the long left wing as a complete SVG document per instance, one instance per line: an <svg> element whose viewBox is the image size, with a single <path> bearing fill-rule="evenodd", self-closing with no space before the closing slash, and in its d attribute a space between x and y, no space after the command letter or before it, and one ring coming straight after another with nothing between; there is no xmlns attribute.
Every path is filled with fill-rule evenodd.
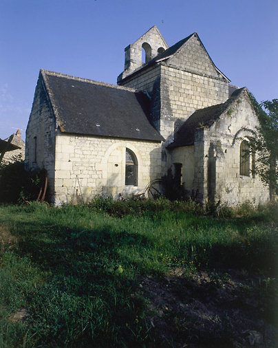
<svg viewBox="0 0 278 348"><path fill-rule="evenodd" d="M62 132L164 140L148 120L145 94L44 70L41 74Z"/></svg>

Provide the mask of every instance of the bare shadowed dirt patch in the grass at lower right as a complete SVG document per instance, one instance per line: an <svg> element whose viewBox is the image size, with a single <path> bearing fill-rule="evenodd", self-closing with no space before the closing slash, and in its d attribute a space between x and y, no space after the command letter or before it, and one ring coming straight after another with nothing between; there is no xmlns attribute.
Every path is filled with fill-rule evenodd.
<svg viewBox="0 0 278 348"><path fill-rule="evenodd" d="M246 271L142 279L161 347L278 347L277 285ZM276 288L277 289L277 288Z"/></svg>

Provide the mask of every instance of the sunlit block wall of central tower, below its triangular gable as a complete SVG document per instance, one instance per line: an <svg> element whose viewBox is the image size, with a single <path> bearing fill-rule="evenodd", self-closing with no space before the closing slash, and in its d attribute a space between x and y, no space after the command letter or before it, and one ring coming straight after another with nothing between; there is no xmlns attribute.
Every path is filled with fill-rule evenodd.
<svg viewBox="0 0 278 348"><path fill-rule="evenodd" d="M161 67L160 132L171 141L175 129L196 109L217 105L228 99L228 82L193 74L167 65Z"/></svg>

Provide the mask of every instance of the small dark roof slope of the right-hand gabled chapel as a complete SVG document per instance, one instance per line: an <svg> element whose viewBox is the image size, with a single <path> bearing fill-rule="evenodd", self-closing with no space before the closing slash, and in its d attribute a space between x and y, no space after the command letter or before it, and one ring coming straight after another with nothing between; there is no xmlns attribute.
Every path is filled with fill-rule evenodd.
<svg viewBox="0 0 278 348"><path fill-rule="evenodd" d="M205 107L204 109L196 110L189 118L182 124L175 135L175 140L167 147L169 149L179 146L193 145L195 140L195 131L202 127L211 127L213 123L220 118L222 113L228 109L231 103L239 96L245 89L236 89L231 98L222 104L213 105L212 107Z"/></svg>

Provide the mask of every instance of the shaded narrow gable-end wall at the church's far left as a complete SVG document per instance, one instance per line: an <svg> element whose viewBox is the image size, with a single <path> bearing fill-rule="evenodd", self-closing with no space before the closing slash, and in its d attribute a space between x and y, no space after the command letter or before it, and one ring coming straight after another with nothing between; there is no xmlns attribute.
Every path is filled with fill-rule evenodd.
<svg viewBox="0 0 278 348"><path fill-rule="evenodd" d="M54 188L56 124L41 77L38 80L25 137L27 168L47 170L50 195Z"/></svg>

